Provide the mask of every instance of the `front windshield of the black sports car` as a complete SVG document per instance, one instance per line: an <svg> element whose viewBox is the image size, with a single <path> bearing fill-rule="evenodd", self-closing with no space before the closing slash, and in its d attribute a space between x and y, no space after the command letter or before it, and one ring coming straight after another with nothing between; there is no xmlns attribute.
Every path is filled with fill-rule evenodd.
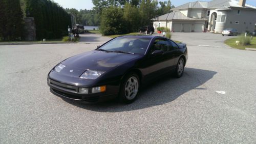
<svg viewBox="0 0 256 144"><path fill-rule="evenodd" d="M144 54L151 38L117 37L97 50Z"/></svg>

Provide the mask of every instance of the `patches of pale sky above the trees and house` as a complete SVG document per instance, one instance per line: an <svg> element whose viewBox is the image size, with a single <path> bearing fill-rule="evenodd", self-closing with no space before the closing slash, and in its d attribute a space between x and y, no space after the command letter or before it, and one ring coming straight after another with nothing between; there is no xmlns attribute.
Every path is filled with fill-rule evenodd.
<svg viewBox="0 0 256 144"><path fill-rule="evenodd" d="M60 6L62 6L63 8L75 8L77 10L80 10L80 9L91 10L94 7L91 0L72 0L72 1L71 0L54 0L54 1L58 3ZM159 0L158 2L160 1L164 1L164 0ZM171 2L174 6L177 7L185 3L195 2L195 1L197 0L172 0ZM211 0L201 0L201 1L209 2ZM256 6L256 0L247 0L246 4Z"/></svg>

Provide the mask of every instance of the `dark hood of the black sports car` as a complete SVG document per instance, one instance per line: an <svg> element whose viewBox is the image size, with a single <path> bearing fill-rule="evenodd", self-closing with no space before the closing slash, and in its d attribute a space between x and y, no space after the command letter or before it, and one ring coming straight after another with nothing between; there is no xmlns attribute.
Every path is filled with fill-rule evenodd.
<svg viewBox="0 0 256 144"><path fill-rule="evenodd" d="M61 70L61 74L79 77L87 69L108 72L127 61L140 57L140 54L127 54L92 50L72 56L61 64L66 67Z"/></svg>

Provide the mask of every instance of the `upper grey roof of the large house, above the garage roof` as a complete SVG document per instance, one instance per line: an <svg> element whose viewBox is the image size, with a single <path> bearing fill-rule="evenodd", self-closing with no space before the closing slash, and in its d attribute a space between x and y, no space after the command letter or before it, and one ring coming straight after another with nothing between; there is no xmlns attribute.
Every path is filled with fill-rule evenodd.
<svg viewBox="0 0 256 144"><path fill-rule="evenodd" d="M203 2L203 1L196 1L193 3L186 3L184 5L178 6L173 8L172 10L177 10L177 9L188 9L188 8L193 8L193 9L210 9L210 8L223 8L223 7L241 7L239 5L239 2L236 0L212 0L210 2ZM254 6L250 5L245 5L245 8L252 8L256 9Z"/></svg>

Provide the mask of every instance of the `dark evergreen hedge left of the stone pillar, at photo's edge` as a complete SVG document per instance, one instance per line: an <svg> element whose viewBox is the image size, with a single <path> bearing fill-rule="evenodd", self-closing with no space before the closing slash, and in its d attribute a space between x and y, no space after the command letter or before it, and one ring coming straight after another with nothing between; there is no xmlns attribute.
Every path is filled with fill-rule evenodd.
<svg viewBox="0 0 256 144"><path fill-rule="evenodd" d="M1 0L0 14L0 39L21 40L24 19L19 0Z"/></svg>

